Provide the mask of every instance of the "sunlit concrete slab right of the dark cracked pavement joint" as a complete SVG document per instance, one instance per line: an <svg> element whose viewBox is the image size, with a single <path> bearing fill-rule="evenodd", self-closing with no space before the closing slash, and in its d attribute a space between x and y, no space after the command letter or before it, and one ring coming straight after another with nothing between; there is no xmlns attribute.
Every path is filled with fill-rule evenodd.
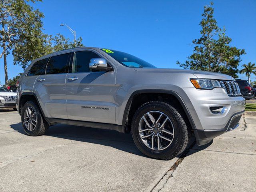
<svg viewBox="0 0 256 192"><path fill-rule="evenodd" d="M256 189L256 116L206 146L194 145L154 191L252 192Z"/></svg>

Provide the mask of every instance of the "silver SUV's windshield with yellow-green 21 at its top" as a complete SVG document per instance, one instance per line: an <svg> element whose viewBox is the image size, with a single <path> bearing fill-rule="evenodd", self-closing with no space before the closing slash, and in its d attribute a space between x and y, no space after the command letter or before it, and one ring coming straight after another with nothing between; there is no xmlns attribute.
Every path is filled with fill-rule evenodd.
<svg viewBox="0 0 256 192"><path fill-rule="evenodd" d="M124 53L121 51L115 51L115 50L109 50L109 49L101 49L102 51L106 52L108 55L110 55L112 58L117 60L120 64L126 66L126 67L132 67L132 68L139 68L139 67L150 67L155 68L154 65L136 57L133 55L130 55L128 53Z"/></svg>

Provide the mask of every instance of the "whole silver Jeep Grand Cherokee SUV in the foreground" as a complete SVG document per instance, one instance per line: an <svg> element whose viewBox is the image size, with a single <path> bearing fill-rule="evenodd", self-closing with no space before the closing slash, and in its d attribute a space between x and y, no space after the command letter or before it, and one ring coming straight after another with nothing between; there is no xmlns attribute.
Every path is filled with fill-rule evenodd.
<svg viewBox="0 0 256 192"><path fill-rule="evenodd" d="M161 69L130 54L74 48L34 60L17 83L24 130L56 123L132 133L147 156L168 160L233 130L245 100L231 76Z"/></svg>

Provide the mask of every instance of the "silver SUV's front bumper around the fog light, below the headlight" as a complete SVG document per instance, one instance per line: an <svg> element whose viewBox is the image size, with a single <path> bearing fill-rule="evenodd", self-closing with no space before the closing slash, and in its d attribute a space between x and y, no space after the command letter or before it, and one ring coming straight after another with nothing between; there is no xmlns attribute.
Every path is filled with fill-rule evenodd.
<svg viewBox="0 0 256 192"><path fill-rule="evenodd" d="M242 96L228 96L222 88L182 88L179 92L186 98L184 102L195 124L193 130L198 145L207 144L216 136L236 128L245 110ZM225 110L214 113L212 109L218 107Z"/></svg>

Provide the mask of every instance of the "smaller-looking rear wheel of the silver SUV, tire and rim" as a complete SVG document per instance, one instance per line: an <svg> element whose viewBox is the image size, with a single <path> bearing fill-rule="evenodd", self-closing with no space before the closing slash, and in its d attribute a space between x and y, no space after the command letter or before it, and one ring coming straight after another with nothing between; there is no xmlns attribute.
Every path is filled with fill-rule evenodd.
<svg viewBox="0 0 256 192"><path fill-rule="evenodd" d="M30 136L43 135L49 127L33 101L26 102L22 107L21 120L24 131Z"/></svg>

